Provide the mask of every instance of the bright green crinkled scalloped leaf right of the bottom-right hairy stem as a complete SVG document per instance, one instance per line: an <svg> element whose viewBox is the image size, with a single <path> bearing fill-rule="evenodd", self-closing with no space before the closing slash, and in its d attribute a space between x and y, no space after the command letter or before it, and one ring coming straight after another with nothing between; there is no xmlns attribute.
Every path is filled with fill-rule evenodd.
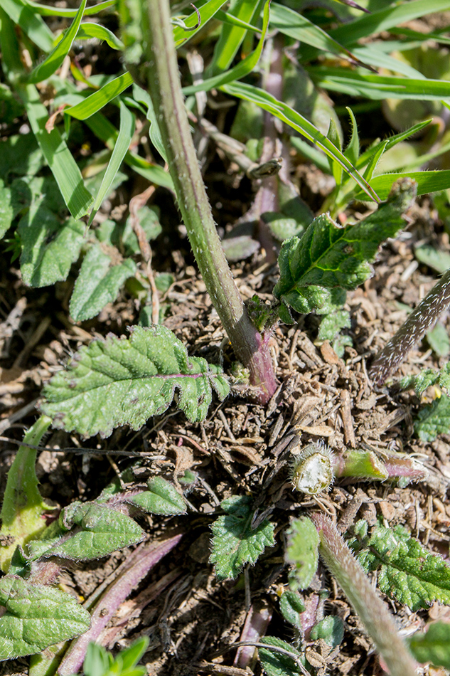
<svg viewBox="0 0 450 676"><path fill-rule="evenodd" d="M450 605L450 566L410 537L403 526L377 526L370 537L349 544L366 572L378 571L378 586L387 596L412 611L433 601Z"/></svg>

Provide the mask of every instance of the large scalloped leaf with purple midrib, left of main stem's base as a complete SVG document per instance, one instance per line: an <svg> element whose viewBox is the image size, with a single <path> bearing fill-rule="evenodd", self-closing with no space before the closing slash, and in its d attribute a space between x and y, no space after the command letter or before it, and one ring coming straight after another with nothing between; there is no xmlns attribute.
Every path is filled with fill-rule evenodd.
<svg viewBox="0 0 450 676"><path fill-rule="evenodd" d="M129 425L139 430L164 413L178 390L178 408L188 420L208 413L212 389L230 391L218 366L188 357L183 343L162 326L132 327L129 338L109 335L80 349L43 389L41 410L53 426L85 436L109 436Z"/></svg>

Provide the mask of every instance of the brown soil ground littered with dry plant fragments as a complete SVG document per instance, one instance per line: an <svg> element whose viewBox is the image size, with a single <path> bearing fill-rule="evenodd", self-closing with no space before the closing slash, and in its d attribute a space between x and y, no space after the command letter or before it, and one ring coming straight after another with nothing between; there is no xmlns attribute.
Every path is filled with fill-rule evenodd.
<svg viewBox="0 0 450 676"><path fill-rule="evenodd" d="M318 199L314 171L304 174L306 189ZM223 178L226 192L230 176L224 174ZM215 181L211 191L217 185ZM135 191L138 189L135 187ZM233 188L231 192L236 190ZM239 204L235 196L228 203L226 198L226 194L221 196L227 205L223 222L236 212L239 215L239 211L245 211L245 204ZM162 190L154 196L154 202L160 206L170 199ZM169 203L168 222L164 224L161 241L155 245L153 258L156 270L170 270L175 275L175 282L160 299L168 305L164 324L183 340L191 355L215 363L223 360L227 370L232 360L230 347L226 342L224 347L223 328L203 281L198 278L183 228L177 228L176 218ZM169 226L175 228L178 240L168 251ZM123 648L146 634L150 645L144 663L149 674L212 673L213 667L207 663L225 667L233 664L236 649L230 646L246 638L243 628L250 603L252 612L266 618L267 635L288 642L294 640L292 628L284 622L278 606L279 591L287 580L283 533L290 519L311 510L326 509L336 519L345 514L349 523L365 518L369 524L375 524L382 517L391 526L406 524L429 549L448 557L450 506L446 490L450 439L441 435L434 443L422 443L414 436L412 427L420 406L417 396L412 391L395 392L389 386L375 389L366 369L366 364L407 316L399 303L415 305L434 283L432 271L414 258L414 245L424 241L450 250L449 236L427 199L411 209L409 224L400 237L380 250L375 276L348 293L347 307L352 319L348 334L353 347L345 348L342 359L328 343L314 344L318 329L314 315L299 317L292 327L277 328L272 354L277 363L279 389L267 408L235 392L223 403L215 401L207 420L200 425L188 423L182 413L169 409L161 418L149 420L138 433L120 428L106 440L93 438L84 442L60 431L47 435L45 450L38 458L38 476L45 498L61 506L73 500L94 499L115 472L130 465L136 484L150 475L162 475L177 484L186 469L194 470L200 477L198 487L188 495L191 509L187 515L141 517L140 523L150 538L180 527L183 539L120 608L103 637L107 648ZM264 252L235 264L233 271L245 300L254 292L263 298L271 297L277 267L267 263ZM26 288L18 270L10 267L7 254L2 256L0 274L0 472L4 490L6 472L16 450L12 440L21 440L23 429L36 419L35 406L43 382L92 337L107 332L124 334L127 326L137 322L139 308L122 295L100 317L72 324L68 319L68 298L74 278L54 288ZM409 354L400 372L417 373L424 366L439 366L426 342ZM406 488L389 482L358 485L354 480L336 480L330 492L321 497L322 505L314 500L302 501L301 494L282 490L289 472L282 455L283 442L293 429L301 435L302 443L321 438L336 451L350 445L380 454L387 449L414 454L429 470L429 477ZM277 544L264 551L245 576L237 581L219 582L208 563L210 524L219 502L236 494L252 495L260 509L267 511L277 524ZM120 551L107 560L67 570L62 582L80 599L89 598L99 583L108 576L114 577L114 571L126 557L127 551ZM164 592L154 598L151 590L164 576L168 576ZM319 613L326 611L341 617L345 636L331 656L321 651L320 642L309 646L309 659L317 673L328 668L327 673L336 676L382 674L358 618L322 566L309 595L318 591L322 592ZM405 634L421 628L429 618L449 613L437 604L418 613L393 602L390 607ZM26 673L27 664L27 659L3 662L0 672ZM235 662L232 672L217 673L245 673L238 664ZM257 665L255 674L259 673Z"/></svg>

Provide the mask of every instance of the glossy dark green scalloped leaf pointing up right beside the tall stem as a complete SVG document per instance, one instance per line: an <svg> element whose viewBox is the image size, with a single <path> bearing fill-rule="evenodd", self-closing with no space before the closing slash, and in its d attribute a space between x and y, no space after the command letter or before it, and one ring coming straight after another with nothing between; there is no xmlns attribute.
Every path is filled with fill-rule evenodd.
<svg viewBox="0 0 450 676"><path fill-rule="evenodd" d="M402 213L414 194L414 181L398 181L387 202L354 226L341 228L328 213L314 218L301 239L283 243L274 296L306 314L325 307L333 289L362 284L372 275L370 262L380 243L404 226Z"/></svg>

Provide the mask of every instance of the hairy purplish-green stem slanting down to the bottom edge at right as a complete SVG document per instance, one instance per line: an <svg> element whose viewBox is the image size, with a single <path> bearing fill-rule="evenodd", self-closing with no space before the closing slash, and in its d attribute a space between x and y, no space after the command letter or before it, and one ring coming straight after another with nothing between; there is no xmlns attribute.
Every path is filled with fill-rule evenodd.
<svg viewBox="0 0 450 676"><path fill-rule="evenodd" d="M415 676L415 662L397 633L385 603L338 532L323 514L311 516L321 539L318 551L382 655L390 676Z"/></svg>

